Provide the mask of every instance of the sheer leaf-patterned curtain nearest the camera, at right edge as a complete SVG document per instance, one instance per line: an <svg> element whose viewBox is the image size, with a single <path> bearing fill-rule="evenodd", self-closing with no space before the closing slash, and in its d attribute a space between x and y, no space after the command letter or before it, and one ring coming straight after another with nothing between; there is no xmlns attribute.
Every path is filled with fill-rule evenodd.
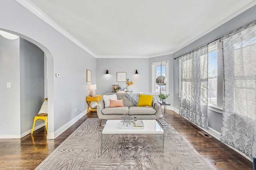
<svg viewBox="0 0 256 170"><path fill-rule="evenodd" d="M256 22L223 39L224 97L220 141L256 156Z"/></svg>

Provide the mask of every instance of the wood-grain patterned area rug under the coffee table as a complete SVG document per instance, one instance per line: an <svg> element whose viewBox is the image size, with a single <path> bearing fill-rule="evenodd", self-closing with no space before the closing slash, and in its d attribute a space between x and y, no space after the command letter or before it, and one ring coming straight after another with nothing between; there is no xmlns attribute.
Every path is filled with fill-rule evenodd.
<svg viewBox="0 0 256 170"><path fill-rule="evenodd" d="M164 130L164 153L152 135L110 135L102 153L106 121L88 118L36 170L180 170L213 169L171 126Z"/></svg>

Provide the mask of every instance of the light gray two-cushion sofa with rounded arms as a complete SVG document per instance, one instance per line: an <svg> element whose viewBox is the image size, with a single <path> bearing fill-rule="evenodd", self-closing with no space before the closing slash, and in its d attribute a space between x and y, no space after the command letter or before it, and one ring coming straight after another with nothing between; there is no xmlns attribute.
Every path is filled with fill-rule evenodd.
<svg viewBox="0 0 256 170"><path fill-rule="evenodd" d="M101 119L122 119L121 117L128 113L137 119L158 119L161 114L160 104L154 104L152 107L138 107L130 99L125 96L125 93L107 93L105 95L116 94L118 100L123 100L124 107L106 107L104 106L104 100L97 106L97 114Z"/></svg>

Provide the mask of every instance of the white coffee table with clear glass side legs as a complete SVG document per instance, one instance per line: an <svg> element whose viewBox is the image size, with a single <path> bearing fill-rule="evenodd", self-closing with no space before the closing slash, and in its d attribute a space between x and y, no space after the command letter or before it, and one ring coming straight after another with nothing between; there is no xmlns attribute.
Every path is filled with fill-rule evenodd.
<svg viewBox="0 0 256 170"><path fill-rule="evenodd" d="M143 120L144 129L119 129L121 120L108 120L101 133L102 153L106 144L107 136L110 134L154 134L162 152L164 152L164 130L156 120Z"/></svg>

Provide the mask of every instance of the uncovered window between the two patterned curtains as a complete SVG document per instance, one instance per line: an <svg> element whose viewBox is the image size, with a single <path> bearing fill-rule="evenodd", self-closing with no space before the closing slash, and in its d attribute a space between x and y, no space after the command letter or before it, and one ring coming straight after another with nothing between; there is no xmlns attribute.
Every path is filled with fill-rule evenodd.
<svg viewBox="0 0 256 170"><path fill-rule="evenodd" d="M222 109L222 42L216 40L208 45L208 106Z"/></svg>

